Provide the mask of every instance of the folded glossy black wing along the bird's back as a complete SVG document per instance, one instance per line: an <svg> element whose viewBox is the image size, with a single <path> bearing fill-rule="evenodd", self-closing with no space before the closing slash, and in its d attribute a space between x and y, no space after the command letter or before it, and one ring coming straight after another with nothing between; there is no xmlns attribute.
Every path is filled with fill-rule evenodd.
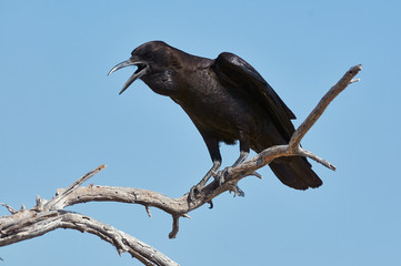
<svg viewBox="0 0 401 266"><path fill-rule="evenodd" d="M214 60L212 68L219 80L240 90L250 101L261 104L284 137L291 137L294 132L291 120L295 115L252 65L233 53L223 52Z"/></svg>

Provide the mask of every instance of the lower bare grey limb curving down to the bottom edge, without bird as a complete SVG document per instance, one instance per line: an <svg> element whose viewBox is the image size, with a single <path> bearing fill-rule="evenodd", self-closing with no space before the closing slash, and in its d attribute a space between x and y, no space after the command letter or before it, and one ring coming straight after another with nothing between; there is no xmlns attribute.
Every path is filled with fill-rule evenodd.
<svg viewBox="0 0 401 266"><path fill-rule="evenodd" d="M21 218L2 223L0 246L41 236L57 228L70 228L99 236L116 246L119 254L128 252L146 265L178 265L148 244L89 216L60 209L37 213L27 211Z"/></svg>

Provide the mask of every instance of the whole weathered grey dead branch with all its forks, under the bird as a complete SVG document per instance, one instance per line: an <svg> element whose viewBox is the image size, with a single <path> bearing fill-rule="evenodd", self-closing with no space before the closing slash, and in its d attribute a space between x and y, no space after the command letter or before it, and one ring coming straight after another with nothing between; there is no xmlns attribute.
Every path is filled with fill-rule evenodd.
<svg viewBox="0 0 401 266"><path fill-rule="evenodd" d="M144 265L178 265L153 247L110 225L82 214L67 212L63 208L87 202L121 202L141 204L144 206L147 214L151 216L150 207L157 207L171 214L173 225L169 237L174 238L179 231L180 217L190 218L188 215L189 212L205 203L211 203L214 197L223 192L235 191L235 185L240 180L249 175L255 175L257 170L265 166L277 157L305 156L330 170L335 170L330 162L303 150L300 146L300 142L334 98L350 83L358 81L353 78L361 70L362 65L351 68L342 79L329 90L310 115L297 129L288 145L269 147L235 167L227 167L221 172L224 176L224 182L219 184L219 182L212 181L193 201L189 201L187 195L179 198L171 198L158 192L140 188L97 185L82 187L83 182L106 167L106 165L101 165L83 175L68 188L58 190L56 196L50 201L42 200L38 196L37 205L31 209L26 209L22 205L20 211L16 211L11 206L2 204L11 215L0 217L0 246L41 236L57 228L71 228L94 234L112 244L119 254L128 252Z"/></svg>

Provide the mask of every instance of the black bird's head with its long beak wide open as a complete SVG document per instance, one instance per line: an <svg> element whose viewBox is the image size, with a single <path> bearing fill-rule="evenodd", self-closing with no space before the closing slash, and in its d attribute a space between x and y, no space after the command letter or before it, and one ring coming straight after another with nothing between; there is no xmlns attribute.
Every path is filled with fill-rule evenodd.
<svg viewBox="0 0 401 266"><path fill-rule="evenodd" d="M151 41L136 48L131 52L131 58L129 60L117 64L109 72L109 74L111 74L112 72L129 65L138 66L137 71L133 72L122 86L119 94L126 91L137 79L160 73L166 66L174 64L176 60L172 59L173 53L171 52L173 49L174 48L162 41Z"/></svg>

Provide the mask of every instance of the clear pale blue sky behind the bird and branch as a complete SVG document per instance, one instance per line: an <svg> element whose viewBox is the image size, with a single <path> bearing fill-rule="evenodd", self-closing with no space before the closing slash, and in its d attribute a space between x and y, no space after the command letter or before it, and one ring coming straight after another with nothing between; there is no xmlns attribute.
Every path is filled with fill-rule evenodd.
<svg viewBox="0 0 401 266"><path fill-rule="evenodd" d="M90 183L178 197L211 166L179 105L133 69L108 71L150 40L250 62L302 121L352 65L361 82L329 106L303 146L338 166L299 192L268 167L182 219L142 206L70 207L182 265L401 265L400 1L0 1L0 202L32 207L100 164ZM231 164L238 146L222 145ZM0 215L6 215L6 208ZM0 248L0 265L137 265L89 234L59 229Z"/></svg>

